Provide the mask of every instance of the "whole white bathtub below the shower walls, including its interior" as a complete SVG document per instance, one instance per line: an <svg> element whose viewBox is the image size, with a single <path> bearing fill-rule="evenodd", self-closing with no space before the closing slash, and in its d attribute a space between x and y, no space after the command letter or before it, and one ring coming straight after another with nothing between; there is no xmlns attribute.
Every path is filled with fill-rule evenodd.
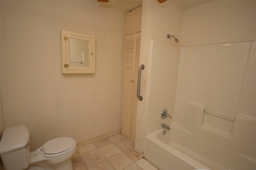
<svg viewBox="0 0 256 170"><path fill-rule="evenodd" d="M256 119L237 116L232 135L170 125L146 135L144 157L160 170L256 170Z"/></svg>

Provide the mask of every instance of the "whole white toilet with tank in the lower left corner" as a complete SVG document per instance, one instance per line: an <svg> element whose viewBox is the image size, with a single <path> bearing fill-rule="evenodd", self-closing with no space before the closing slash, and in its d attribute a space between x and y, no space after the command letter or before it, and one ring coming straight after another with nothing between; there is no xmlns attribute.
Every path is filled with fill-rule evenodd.
<svg viewBox="0 0 256 170"><path fill-rule="evenodd" d="M25 125L4 129L0 147L6 170L73 170L71 156L77 148L75 139L59 137L30 152L30 135Z"/></svg>

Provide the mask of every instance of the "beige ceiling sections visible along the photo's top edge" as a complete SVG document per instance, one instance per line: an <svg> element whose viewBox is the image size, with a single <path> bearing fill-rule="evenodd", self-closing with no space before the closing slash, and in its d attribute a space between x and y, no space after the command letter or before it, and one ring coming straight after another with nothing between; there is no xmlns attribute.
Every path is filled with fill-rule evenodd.
<svg viewBox="0 0 256 170"><path fill-rule="evenodd" d="M139 6L142 6L142 0L110 0L109 2L98 2L97 0L92 0L93 2L114 8L120 12L129 12ZM169 0L176 6L180 7L182 10L187 10L189 8L205 4L212 0ZM163 2L164 3L164 2Z"/></svg>

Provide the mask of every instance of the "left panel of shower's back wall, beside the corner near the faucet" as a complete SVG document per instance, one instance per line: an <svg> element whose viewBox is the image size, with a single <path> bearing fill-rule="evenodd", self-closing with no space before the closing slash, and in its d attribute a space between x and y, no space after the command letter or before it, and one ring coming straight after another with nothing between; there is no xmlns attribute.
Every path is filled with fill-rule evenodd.
<svg viewBox="0 0 256 170"><path fill-rule="evenodd" d="M214 45L182 47L174 122L184 124L186 102L206 106Z"/></svg>

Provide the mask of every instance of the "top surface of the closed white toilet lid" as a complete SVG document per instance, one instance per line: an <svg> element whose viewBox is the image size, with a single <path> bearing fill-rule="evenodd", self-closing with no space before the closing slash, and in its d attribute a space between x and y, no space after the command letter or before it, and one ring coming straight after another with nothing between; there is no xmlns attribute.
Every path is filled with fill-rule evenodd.
<svg viewBox="0 0 256 170"><path fill-rule="evenodd" d="M75 144L70 137L59 137L46 142L43 145L46 154L56 154L70 149Z"/></svg>

